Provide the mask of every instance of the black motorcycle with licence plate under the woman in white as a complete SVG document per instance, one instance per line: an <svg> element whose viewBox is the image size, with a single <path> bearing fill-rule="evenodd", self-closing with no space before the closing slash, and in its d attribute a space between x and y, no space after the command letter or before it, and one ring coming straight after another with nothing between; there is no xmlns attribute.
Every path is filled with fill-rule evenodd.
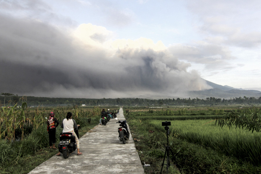
<svg viewBox="0 0 261 174"><path fill-rule="evenodd" d="M77 149L75 136L71 132L60 133L60 143L58 150L63 154L64 159L69 157L69 154Z"/></svg>

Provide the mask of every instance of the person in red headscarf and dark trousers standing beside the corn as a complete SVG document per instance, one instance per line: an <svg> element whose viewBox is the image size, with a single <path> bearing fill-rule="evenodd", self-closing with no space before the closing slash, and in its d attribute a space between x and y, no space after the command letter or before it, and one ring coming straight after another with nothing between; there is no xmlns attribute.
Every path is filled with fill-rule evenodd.
<svg viewBox="0 0 261 174"><path fill-rule="evenodd" d="M55 114L50 112L49 119L47 120L47 132L49 134L49 146L50 148L56 149L56 127L59 125L59 121L54 117Z"/></svg>

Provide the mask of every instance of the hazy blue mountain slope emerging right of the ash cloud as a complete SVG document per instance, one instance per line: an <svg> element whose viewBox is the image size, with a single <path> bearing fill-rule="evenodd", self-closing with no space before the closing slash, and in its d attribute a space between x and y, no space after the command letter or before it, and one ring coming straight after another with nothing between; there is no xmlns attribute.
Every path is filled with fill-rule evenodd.
<svg viewBox="0 0 261 174"><path fill-rule="evenodd" d="M244 90L242 88L233 88L230 86L222 86L215 84L213 82L207 81L206 83L213 87L213 89L203 90L203 91L191 91L189 92L189 96L192 98L206 98L206 97L215 97L215 98L239 98L239 97L261 97L261 92L257 90Z"/></svg>

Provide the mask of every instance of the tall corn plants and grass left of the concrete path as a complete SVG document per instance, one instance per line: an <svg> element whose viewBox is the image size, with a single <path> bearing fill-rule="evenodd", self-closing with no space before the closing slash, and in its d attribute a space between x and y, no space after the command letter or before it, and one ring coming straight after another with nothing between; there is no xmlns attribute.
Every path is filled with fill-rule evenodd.
<svg viewBox="0 0 261 174"><path fill-rule="evenodd" d="M80 125L79 137L99 123L101 112L98 107L27 108L24 100L21 106L0 108L0 173L29 173L58 152L49 148L46 121L50 112L55 113L59 122L67 112L72 112L73 119ZM58 125L56 147L60 132L62 128Z"/></svg>

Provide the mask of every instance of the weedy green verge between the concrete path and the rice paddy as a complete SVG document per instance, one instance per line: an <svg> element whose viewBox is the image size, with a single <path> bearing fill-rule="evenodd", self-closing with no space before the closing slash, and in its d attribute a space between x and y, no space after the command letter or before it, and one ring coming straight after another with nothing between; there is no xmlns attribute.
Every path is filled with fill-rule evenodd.
<svg viewBox="0 0 261 174"><path fill-rule="evenodd" d="M137 117L130 117L128 120L133 138L137 139L134 142L141 162L151 165L144 168L145 173L160 173L162 167L161 164L167 142L166 130L161 125L161 121L166 120L142 120ZM186 121L182 122L185 123ZM186 139L179 138L180 134L173 129L173 127L177 127L174 122L171 122L169 127L169 145L175 154L173 156L170 153L171 164L177 164L182 173L252 174L260 171L259 166L254 166L234 156L225 155L225 153L222 153L222 150L206 148L205 146L200 146L199 143L190 143ZM174 166L171 166L169 169L171 170L169 170L169 173L180 173ZM163 173L166 173L165 167L163 168Z"/></svg>

